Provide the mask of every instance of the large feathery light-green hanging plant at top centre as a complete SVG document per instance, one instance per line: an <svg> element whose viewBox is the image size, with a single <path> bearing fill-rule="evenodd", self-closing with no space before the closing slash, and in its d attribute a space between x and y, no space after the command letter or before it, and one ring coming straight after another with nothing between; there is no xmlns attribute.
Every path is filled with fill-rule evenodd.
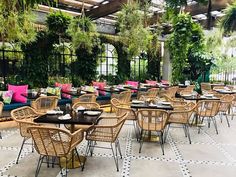
<svg viewBox="0 0 236 177"><path fill-rule="evenodd" d="M144 27L144 15L137 3L128 3L118 14L120 41L127 47L129 59L147 49L150 33Z"/></svg>

